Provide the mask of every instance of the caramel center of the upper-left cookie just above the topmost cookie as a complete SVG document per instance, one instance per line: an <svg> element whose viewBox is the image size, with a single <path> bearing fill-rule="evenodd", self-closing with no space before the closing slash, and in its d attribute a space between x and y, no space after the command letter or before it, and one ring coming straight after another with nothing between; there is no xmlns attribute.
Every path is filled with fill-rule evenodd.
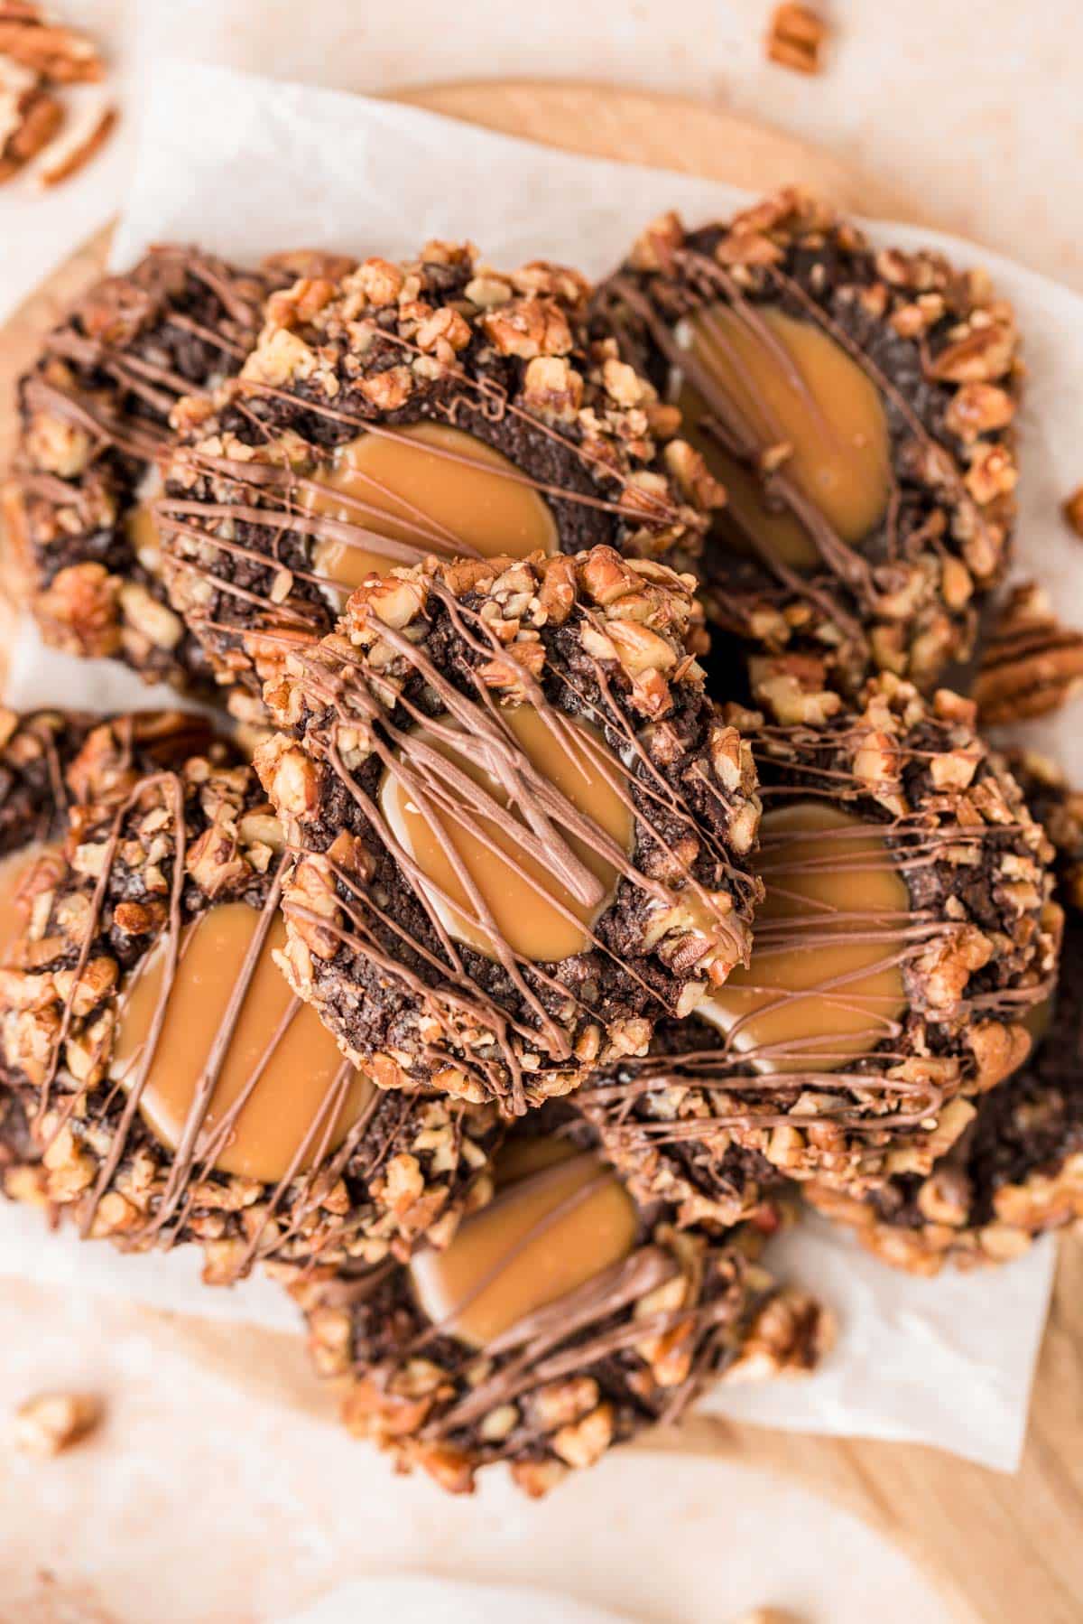
<svg viewBox="0 0 1083 1624"><path fill-rule="evenodd" d="M373 570L385 575L429 554L524 559L557 551L557 525L544 497L507 456L450 424L362 434L338 448L333 468L317 482L318 490L305 487L304 505L359 531L356 544L326 538L313 549L313 570L343 591L360 586ZM382 549L378 536L401 547Z"/></svg>

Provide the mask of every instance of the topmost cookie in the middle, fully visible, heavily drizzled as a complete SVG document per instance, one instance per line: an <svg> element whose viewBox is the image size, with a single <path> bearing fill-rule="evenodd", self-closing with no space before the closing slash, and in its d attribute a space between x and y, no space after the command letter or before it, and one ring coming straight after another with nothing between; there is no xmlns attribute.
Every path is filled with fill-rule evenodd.
<svg viewBox="0 0 1083 1624"><path fill-rule="evenodd" d="M747 957L755 768L692 586L611 547L429 560L268 684L286 970L378 1085L518 1114Z"/></svg>

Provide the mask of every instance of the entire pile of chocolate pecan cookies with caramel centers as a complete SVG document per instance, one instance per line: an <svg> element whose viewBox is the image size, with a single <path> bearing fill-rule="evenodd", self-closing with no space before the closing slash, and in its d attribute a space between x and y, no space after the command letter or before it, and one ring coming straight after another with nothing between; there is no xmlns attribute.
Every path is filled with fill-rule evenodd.
<svg viewBox="0 0 1083 1624"><path fill-rule="evenodd" d="M797 193L598 287L91 289L26 596L219 723L3 718L6 1194L270 1270L352 1431L529 1494L817 1364L799 1197L921 1272L1083 1213L1081 804L964 697L1020 372L984 278Z"/></svg>

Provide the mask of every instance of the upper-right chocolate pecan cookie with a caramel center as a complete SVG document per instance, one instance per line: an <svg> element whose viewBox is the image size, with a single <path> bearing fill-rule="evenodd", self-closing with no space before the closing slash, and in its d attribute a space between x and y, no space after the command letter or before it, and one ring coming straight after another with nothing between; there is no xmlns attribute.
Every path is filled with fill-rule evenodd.
<svg viewBox="0 0 1083 1624"><path fill-rule="evenodd" d="M731 221L654 221L599 289L596 331L727 487L708 614L856 693L963 661L1015 516L1018 335L981 271L874 250L792 188Z"/></svg>

